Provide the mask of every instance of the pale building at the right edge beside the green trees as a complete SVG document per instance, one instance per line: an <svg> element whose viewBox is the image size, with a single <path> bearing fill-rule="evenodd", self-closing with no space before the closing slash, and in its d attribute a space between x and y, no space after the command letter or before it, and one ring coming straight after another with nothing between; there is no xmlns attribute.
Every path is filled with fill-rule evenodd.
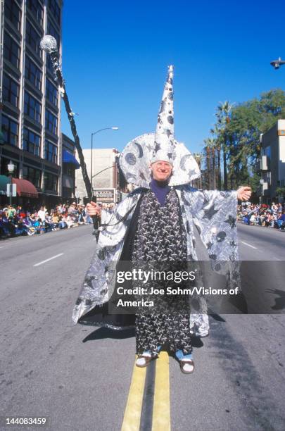
<svg viewBox="0 0 285 431"><path fill-rule="evenodd" d="M285 120L278 120L270 130L260 135L260 144L260 196L265 204L270 204L280 200L276 189L285 187Z"/></svg>

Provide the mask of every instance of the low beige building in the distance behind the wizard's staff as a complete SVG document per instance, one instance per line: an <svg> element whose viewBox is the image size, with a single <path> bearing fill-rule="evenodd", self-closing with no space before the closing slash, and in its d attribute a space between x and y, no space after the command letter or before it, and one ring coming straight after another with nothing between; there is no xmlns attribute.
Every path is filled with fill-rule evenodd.
<svg viewBox="0 0 285 431"><path fill-rule="evenodd" d="M115 202L120 201L120 186L116 149L84 149L83 155L87 166L87 173L91 180L97 201ZM77 155L77 161L79 161ZM76 196L83 201L87 197L81 169L75 172Z"/></svg>

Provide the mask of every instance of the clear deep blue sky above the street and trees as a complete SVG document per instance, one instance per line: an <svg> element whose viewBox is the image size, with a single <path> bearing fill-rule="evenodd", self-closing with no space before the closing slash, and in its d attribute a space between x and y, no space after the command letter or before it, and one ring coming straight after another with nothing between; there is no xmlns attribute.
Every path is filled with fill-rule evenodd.
<svg viewBox="0 0 285 431"><path fill-rule="evenodd" d="M175 65L175 136L201 151L220 101L285 88L284 2L65 0L63 76L83 148L122 150L153 132ZM62 130L72 137L63 106Z"/></svg>

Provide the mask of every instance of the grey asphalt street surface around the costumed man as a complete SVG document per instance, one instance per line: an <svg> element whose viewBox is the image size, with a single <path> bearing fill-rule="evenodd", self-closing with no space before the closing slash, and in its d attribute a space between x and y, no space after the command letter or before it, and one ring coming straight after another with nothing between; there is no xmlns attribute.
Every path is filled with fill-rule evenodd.
<svg viewBox="0 0 285 431"><path fill-rule="evenodd" d="M239 225L241 259L277 265L265 263L272 289L284 289L284 244L284 232ZM90 226L0 242L1 430L40 427L5 425L13 417L48 418L44 430L120 430L134 334L71 322L94 248ZM172 430L283 431L284 315L216 315L210 327L194 339L193 375L170 358Z"/></svg>

